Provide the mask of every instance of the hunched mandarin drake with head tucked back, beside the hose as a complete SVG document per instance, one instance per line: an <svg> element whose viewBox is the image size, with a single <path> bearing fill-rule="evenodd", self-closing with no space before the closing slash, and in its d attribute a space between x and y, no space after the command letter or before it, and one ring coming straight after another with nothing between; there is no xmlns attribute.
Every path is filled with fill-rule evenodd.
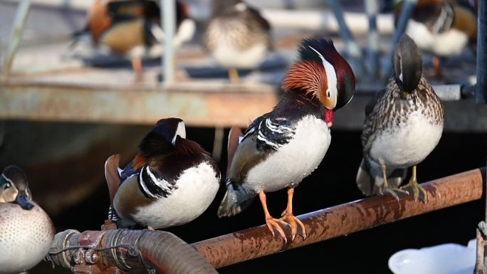
<svg viewBox="0 0 487 274"><path fill-rule="evenodd" d="M208 208L219 189L219 168L199 144L186 139L181 119L159 120L139 150L120 172L119 155L105 164L112 221L166 228L188 223Z"/></svg>

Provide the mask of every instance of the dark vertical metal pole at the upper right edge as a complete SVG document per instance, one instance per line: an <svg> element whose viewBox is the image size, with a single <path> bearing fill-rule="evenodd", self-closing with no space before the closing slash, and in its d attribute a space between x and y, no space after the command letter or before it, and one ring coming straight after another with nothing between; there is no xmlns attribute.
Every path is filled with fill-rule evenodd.
<svg viewBox="0 0 487 274"><path fill-rule="evenodd" d="M477 19L477 103L485 104L487 102L487 2L478 1L478 19Z"/></svg>

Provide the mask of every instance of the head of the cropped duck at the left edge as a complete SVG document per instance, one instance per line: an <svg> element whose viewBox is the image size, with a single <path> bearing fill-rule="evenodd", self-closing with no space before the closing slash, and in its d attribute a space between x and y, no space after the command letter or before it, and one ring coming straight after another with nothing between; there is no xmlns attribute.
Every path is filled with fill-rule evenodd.
<svg viewBox="0 0 487 274"><path fill-rule="evenodd" d="M0 176L0 203L16 203L22 209L33 209L26 174L20 167L9 166Z"/></svg>

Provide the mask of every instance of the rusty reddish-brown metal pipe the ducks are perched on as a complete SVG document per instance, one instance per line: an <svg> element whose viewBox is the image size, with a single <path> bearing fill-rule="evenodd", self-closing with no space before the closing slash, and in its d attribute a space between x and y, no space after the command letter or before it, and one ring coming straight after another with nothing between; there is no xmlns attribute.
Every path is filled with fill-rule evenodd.
<svg viewBox="0 0 487 274"><path fill-rule="evenodd" d="M480 199L485 180L483 174L485 168L473 169L422 184L428 192L426 205L421 201L414 202L410 196L399 201L392 196L374 196L298 216L306 226L308 237L303 240L298 236L286 246L281 238L273 238L265 226L200 241L192 246L211 265L221 268Z"/></svg>

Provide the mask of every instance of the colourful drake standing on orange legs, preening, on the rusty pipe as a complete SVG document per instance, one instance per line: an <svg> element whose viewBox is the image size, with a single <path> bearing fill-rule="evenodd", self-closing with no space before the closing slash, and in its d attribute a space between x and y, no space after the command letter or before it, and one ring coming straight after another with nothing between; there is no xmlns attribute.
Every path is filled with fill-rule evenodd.
<svg viewBox="0 0 487 274"><path fill-rule="evenodd" d="M285 241L281 225L286 222L293 239L298 230L306 237L303 223L293 216L294 188L320 164L330 145L333 112L347 105L355 93L352 69L330 39L304 39L298 54L273 111L256 118L243 137L232 130L227 191L218 210L220 217L233 216L259 196L269 230L274 235L276 229ZM266 192L286 188L288 206L283 218L273 218Z"/></svg>

